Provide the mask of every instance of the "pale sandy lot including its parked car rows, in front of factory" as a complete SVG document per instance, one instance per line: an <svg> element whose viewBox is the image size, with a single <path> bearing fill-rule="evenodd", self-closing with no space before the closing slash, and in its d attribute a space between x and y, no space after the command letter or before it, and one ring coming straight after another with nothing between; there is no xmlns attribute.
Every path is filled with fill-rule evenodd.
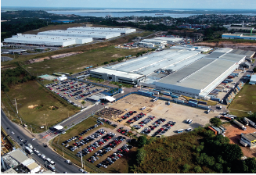
<svg viewBox="0 0 256 175"><path fill-rule="evenodd" d="M166 130L162 135L171 136L177 134L177 130L186 130L189 128L193 130L195 127L204 127L207 123L209 123L211 118L218 116L218 112L210 112L207 114L205 110L186 105L178 105L175 103L168 105L168 102L162 100L152 102L152 98L141 95L128 95L127 97L115 102L113 105L110 105L110 107L125 111L123 114L121 114L121 116L110 117L111 120L117 121L123 125L125 124L130 125L130 127L136 127L136 125L142 125L142 120L148 119L149 121L143 123L143 127L138 127L137 131L142 133L142 130L149 128L149 130L151 130L148 134L149 136L155 134L157 130L160 130L160 128L163 128L162 131ZM146 108L142 110L142 107ZM122 118L125 113L130 111L135 111L136 113L132 113L127 118ZM138 116L140 113L144 115L137 120L136 116ZM193 120L192 123L186 123L186 120L188 119ZM128 123L128 120L132 120L132 123ZM143 134L145 134L145 131ZM160 135L161 134L155 134L155 136Z"/></svg>

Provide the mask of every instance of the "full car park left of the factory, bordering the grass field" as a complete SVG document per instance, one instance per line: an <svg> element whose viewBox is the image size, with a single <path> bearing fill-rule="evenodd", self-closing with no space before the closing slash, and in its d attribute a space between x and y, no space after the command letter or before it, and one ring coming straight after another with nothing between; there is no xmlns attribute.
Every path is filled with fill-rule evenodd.
<svg viewBox="0 0 256 175"><path fill-rule="evenodd" d="M75 80L62 80L58 83L47 84L45 87L54 91L70 104L83 108L93 104L93 102L86 101L86 98L106 90L104 87L96 87L92 84L85 84ZM85 104L82 104L81 102L84 100Z"/></svg>

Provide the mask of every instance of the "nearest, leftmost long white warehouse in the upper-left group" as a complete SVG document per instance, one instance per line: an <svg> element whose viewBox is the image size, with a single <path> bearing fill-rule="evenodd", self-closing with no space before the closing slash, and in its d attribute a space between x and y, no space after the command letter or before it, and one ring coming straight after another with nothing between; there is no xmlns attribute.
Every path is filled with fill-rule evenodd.
<svg viewBox="0 0 256 175"><path fill-rule="evenodd" d="M17 34L13 37L5 38L3 41L10 45L39 45L66 47L69 45L85 44L92 42L92 37L62 37L35 34Z"/></svg>

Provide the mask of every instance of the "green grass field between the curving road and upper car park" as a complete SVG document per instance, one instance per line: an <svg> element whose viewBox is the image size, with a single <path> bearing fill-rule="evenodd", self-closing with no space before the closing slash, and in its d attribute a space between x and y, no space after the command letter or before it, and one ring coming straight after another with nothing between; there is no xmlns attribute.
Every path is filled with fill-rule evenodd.
<svg viewBox="0 0 256 175"><path fill-rule="evenodd" d="M48 127L52 127L52 125L78 112L78 110L71 109L69 105L60 102L57 97L50 94L49 91L46 91L44 87L41 87L37 81L28 81L27 83L11 87L7 95L9 95L11 100L16 98L20 115L28 126L32 125L34 132L44 131L41 130L40 127L45 126L45 122ZM3 92L1 100L4 105L8 107L13 119L16 119L14 112L11 112L12 110L7 103L9 99ZM9 103L11 104L12 102ZM33 109L31 105L38 106L35 106ZM41 106L41 108L39 106ZM53 108L51 106L56 106L58 109L52 110ZM13 109L15 109L14 106Z"/></svg>

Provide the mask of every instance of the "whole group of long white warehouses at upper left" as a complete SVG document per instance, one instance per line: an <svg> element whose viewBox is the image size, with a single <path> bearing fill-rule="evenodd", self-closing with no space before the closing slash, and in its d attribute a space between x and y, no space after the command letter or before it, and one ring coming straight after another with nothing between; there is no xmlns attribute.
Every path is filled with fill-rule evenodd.
<svg viewBox="0 0 256 175"><path fill-rule="evenodd" d="M132 28L106 28L106 27L72 27L67 30L49 30L35 34L17 34L5 38L3 43L8 45L38 45L52 47L66 47L81 45L93 40L107 40L119 37L121 34L135 32Z"/></svg>

